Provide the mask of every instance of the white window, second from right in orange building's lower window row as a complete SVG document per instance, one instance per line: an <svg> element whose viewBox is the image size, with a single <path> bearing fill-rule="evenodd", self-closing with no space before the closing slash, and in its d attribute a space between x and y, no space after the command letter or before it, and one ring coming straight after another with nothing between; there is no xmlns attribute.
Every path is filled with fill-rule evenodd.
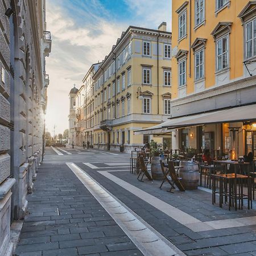
<svg viewBox="0 0 256 256"><path fill-rule="evenodd" d="M228 35L218 39L217 42L217 71L228 67Z"/></svg>

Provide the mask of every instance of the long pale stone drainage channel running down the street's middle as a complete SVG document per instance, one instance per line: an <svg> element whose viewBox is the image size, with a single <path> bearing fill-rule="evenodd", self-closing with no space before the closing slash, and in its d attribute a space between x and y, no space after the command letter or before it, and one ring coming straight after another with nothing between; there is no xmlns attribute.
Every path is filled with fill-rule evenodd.
<svg viewBox="0 0 256 256"><path fill-rule="evenodd" d="M74 163L66 163L144 255L185 255Z"/></svg>

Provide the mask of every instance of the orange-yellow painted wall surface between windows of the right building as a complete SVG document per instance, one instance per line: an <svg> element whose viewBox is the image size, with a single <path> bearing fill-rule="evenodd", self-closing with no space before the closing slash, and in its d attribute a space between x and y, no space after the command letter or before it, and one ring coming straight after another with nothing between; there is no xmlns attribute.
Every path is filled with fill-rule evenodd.
<svg viewBox="0 0 256 256"><path fill-rule="evenodd" d="M205 48L205 89L215 85L215 42L213 36L210 35L218 22L233 22L229 37L229 67L230 80L237 79L243 75L243 26L238 14L249 1L231 0L230 6L225 7L219 13L215 13L216 1L205 0L205 24L194 29L195 27L195 1L188 0L187 5L187 38L178 42L178 16L176 10L185 2L185 0L172 0L172 48L176 47L189 51L189 5L191 4L191 44L196 38L207 39ZM191 77L189 73L189 53L187 55L187 94L195 92L195 67L194 55L191 50ZM172 57L172 98L178 96L178 69L177 59Z"/></svg>

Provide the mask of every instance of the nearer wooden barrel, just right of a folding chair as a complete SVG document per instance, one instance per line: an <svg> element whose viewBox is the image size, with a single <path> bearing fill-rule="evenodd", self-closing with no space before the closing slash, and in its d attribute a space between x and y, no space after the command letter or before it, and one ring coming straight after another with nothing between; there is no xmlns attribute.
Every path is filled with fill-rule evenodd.
<svg viewBox="0 0 256 256"><path fill-rule="evenodd" d="M179 177L181 177L181 184L187 190L197 189L199 181L199 167L198 164L191 161L180 161Z"/></svg>

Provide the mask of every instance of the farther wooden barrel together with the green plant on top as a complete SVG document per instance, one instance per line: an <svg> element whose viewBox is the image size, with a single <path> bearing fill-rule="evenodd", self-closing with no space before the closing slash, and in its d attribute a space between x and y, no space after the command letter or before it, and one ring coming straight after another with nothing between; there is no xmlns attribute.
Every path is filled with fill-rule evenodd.
<svg viewBox="0 0 256 256"><path fill-rule="evenodd" d="M160 166L160 159L164 159L163 155L163 144L156 143L155 141L151 140L150 142L150 152L151 152L151 175L153 179L162 179L163 172Z"/></svg>

